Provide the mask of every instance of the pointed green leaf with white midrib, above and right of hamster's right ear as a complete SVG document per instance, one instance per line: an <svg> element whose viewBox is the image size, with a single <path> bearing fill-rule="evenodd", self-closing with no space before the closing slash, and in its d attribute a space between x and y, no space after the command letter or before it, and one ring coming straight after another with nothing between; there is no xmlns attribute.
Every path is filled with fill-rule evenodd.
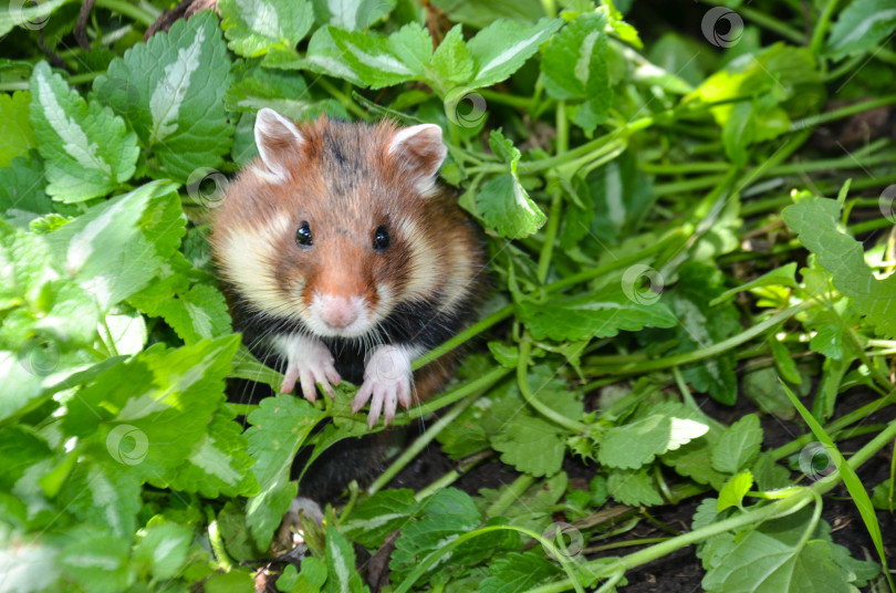
<svg viewBox="0 0 896 593"><path fill-rule="evenodd" d="M499 19L479 31L467 42L473 61L470 86L491 86L508 79L562 24L560 19L542 19L533 25Z"/></svg>

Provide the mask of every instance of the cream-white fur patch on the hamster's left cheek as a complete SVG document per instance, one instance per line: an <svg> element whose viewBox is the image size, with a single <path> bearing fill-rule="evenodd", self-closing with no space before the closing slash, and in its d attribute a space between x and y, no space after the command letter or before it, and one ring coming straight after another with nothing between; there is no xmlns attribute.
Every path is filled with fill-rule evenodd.
<svg viewBox="0 0 896 593"><path fill-rule="evenodd" d="M272 237L282 236L289 227L288 217L268 221L267 229L238 227L228 233L221 254L222 272L229 282L250 302L268 313L301 319L303 309L298 294L303 283L293 289L294 299L283 294L273 275L273 261L280 252Z"/></svg>

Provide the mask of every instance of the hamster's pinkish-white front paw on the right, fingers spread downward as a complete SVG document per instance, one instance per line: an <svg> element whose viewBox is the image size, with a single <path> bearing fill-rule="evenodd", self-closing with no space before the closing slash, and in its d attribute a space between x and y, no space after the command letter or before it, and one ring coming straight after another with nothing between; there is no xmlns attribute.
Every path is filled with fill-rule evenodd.
<svg viewBox="0 0 896 593"><path fill-rule="evenodd" d="M352 402L352 412L357 413L371 400L367 425L373 428L379 414L388 425L395 418L398 402L410 407L410 352L402 346L377 347L364 367L364 383Z"/></svg>

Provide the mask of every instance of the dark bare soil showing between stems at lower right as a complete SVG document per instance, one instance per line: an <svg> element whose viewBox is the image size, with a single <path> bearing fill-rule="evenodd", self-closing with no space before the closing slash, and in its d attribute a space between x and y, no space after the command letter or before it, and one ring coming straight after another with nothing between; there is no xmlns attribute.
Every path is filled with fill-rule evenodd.
<svg viewBox="0 0 896 593"><path fill-rule="evenodd" d="M872 399L872 395L866 391L854 389L841 396L837 408L848 412ZM756 406L743 397L734 406L723 406L708 397L698 398L698 404L712 417L726 424L731 424L746 414L757 412ZM896 416L896 410L890 406L868 417L864 424L889 422L894 416ZM784 422L767 414L760 417L765 435L763 450L790 443L806 431L804 427L801 427L795 422ZM869 439L869 436L858 437L841 441L838 446L843 454L848 457ZM877 456L859 468L858 477L868 490L889 476L892 455L893 449L885 447ZM433 445L405 468L389 487L420 489L454 468L455 464L439 450L438 445ZM564 470L570 475L571 479L590 479L594 475L594 467L587 467L572 459L566 460ZM512 482L517 476L515 471L496 459L480 464L452 486L476 496L481 488L498 488ZM674 483L675 475L669 474L667 479L670 480L670 483ZM655 507L650 509L650 512L654 518L663 523L677 530L687 531L690 529L694 511L702 498L705 496L685 500L677 506ZM610 504L613 504L613 502L607 502L607 506ZM877 555L862 517L843 486L838 486L825 495L822 517L832 526L834 542L848 548L855 558L876 560ZM878 511L877 519L883 532L887 561L890 566L896 566L896 518L888 512ZM653 523L642 521L635 529L621 535L618 540L654 538L666 534ZM607 552L606 555L614 553L625 554L636 550L637 548L628 548L623 551L616 550ZM622 591L626 593L695 593L702 591L700 581L704 574L705 571L700 560L695 554L694 547L688 547L631 571L626 574L628 585L622 587Z"/></svg>

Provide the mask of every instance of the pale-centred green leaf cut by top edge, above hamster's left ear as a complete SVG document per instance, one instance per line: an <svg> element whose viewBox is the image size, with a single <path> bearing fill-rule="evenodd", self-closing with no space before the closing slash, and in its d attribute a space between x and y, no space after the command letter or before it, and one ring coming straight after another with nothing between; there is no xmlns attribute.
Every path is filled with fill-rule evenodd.
<svg viewBox="0 0 896 593"><path fill-rule="evenodd" d="M218 2L227 46L244 58L270 52L292 54L314 22L309 0L221 0Z"/></svg>

